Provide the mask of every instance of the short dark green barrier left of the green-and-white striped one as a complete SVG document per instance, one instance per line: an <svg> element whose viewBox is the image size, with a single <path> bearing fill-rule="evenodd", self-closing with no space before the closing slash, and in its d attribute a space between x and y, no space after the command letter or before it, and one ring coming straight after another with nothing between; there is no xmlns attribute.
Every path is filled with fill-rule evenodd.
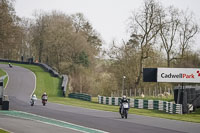
<svg viewBox="0 0 200 133"><path fill-rule="evenodd" d="M70 93L68 94L69 98L76 98L84 101L91 101L91 96L84 93ZM106 102L105 102L106 103Z"/></svg>

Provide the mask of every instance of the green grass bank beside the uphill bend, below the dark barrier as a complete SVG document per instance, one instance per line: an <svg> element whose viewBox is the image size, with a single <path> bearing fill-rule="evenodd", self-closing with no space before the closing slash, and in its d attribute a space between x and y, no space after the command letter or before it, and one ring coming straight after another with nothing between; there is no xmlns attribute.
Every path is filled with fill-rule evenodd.
<svg viewBox="0 0 200 133"><path fill-rule="evenodd" d="M4 63L8 64L8 63ZM47 93L48 96L61 96L62 90L60 88L61 78L52 77L50 73L45 72L43 68L36 65L29 65L29 64L15 64L12 63L13 67L21 66L31 70L37 77L36 80L36 90L35 94L39 98L44 92Z"/></svg>

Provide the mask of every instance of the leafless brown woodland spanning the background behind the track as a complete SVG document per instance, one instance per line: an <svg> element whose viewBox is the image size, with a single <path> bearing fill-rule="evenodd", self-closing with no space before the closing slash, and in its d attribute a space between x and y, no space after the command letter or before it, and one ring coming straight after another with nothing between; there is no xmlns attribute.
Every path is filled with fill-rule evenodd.
<svg viewBox="0 0 200 133"><path fill-rule="evenodd" d="M103 50L101 35L84 14L40 11L33 19L20 18L14 4L0 0L0 58L46 63L70 77L72 92L157 95L177 84L144 83L143 68L200 68L200 49L194 46L199 24L189 9L144 0L130 14L130 39L113 40Z"/></svg>

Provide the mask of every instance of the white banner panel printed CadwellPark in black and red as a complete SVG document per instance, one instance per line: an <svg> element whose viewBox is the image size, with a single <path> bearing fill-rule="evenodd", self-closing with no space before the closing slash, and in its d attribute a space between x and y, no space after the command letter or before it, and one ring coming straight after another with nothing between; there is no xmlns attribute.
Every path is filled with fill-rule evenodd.
<svg viewBox="0 0 200 133"><path fill-rule="evenodd" d="M157 82L200 83L200 68L158 68Z"/></svg>

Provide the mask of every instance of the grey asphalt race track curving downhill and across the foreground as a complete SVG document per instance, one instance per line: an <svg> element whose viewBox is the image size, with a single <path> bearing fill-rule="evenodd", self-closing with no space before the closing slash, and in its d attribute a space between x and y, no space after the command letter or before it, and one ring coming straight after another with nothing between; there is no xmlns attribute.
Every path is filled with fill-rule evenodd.
<svg viewBox="0 0 200 133"><path fill-rule="evenodd" d="M17 110L44 116L51 119L65 121L92 129L111 133L199 133L200 124L162 118L130 115L128 119L121 119L118 113L84 109L80 107L65 106L47 103L42 106L41 101L31 107L30 95L35 88L35 76L27 69L0 64L0 68L9 75L9 82L5 93L9 95L10 110ZM184 117L184 115L183 115ZM6 124L5 124L6 123ZM16 126L17 125L17 126ZM15 133L77 133L80 131L63 128L46 123L15 118L0 114L0 128Z"/></svg>

